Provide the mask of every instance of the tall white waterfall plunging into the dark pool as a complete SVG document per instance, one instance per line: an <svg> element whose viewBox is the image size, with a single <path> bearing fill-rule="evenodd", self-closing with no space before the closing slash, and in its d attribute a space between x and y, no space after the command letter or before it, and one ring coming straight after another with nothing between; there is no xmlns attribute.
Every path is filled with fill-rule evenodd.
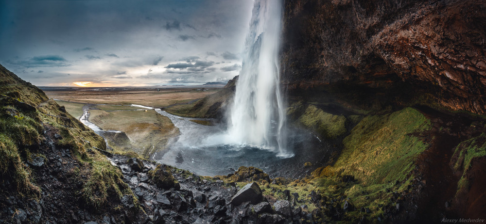
<svg viewBox="0 0 486 224"><path fill-rule="evenodd" d="M282 2L255 0L245 39L243 66L228 117L231 142L266 148L291 157L278 53Z"/></svg>

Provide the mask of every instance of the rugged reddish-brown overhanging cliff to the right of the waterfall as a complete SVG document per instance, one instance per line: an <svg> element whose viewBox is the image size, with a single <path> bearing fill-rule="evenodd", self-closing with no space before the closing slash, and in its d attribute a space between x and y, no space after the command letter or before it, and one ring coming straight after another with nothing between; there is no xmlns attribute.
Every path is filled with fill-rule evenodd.
<svg viewBox="0 0 486 224"><path fill-rule="evenodd" d="M486 112L485 1L286 0L283 39L291 92L327 86Z"/></svg>

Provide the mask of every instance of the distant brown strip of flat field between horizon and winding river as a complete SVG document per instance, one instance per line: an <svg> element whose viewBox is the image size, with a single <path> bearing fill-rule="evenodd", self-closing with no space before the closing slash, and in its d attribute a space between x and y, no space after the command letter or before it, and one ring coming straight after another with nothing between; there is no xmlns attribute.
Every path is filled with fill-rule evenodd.
<svg viewBox="0 0 486 224"><path fill-rule="evenodd" d="M197 91L193 89L174 90L127 90L127 91L45 91L50 98L93 104L139 104L151 107L166 107L175 103L203 98L220 89Z"/></svg>

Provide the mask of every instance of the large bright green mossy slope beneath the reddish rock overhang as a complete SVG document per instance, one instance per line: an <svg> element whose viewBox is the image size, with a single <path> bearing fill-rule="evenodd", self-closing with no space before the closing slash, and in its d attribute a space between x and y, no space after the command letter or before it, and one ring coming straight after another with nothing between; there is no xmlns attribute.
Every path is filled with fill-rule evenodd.
<svg viewBox="0 0 486 224"><path fill-rule="evenodd" d="M415 134L430 128L430 120L412 108L367 116L344 139L333 170L365 184L406 180L415 157L428 147Z"/></svg>

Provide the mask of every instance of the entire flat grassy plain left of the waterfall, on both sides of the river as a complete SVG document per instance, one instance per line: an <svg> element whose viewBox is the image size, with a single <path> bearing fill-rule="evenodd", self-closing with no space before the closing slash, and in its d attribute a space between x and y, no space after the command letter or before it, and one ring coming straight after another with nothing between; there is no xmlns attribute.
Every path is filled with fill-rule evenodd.
<svg viewBox="0 0 486 224"><path fill-rule="evenodd" d="M79 118L83 106L94 105L90 110L89 121L104 130L119 130L126 137L110 139L110 146L115 150L135 151L140 156L149 158L157 151L163 151L167 142L179 134L178 128L171 120L154 110L129 106L138 104L151 107L167 107L174 104L186 105L203 98L219 89L201 91L197 89L176 88L156 91L153 89L95 90L67 89L45 91L50 98L58 99L57 103L66 107L66 111ZM177 106L180 106L177 105ZM176 107L177 107L176 106ZM191 105L192 106L192 105ZM130 144L126 144L129 140Z"/></svg>

